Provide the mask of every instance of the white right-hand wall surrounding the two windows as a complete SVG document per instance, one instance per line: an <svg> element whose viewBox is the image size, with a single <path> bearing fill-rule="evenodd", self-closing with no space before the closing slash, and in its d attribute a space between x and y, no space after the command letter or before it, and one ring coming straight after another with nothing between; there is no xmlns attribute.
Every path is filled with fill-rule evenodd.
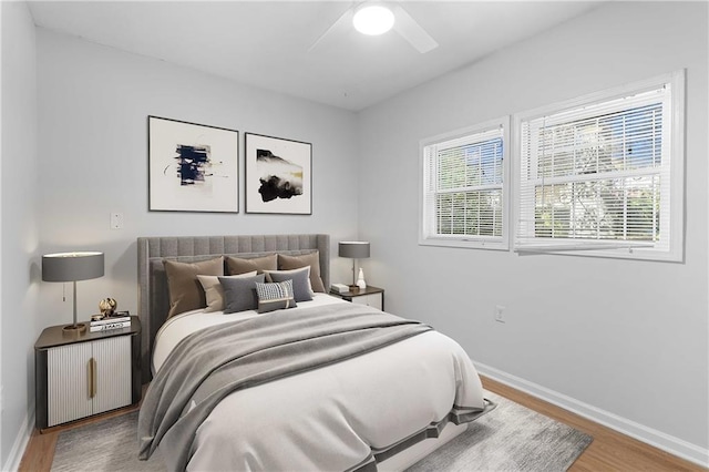
<svg viewBox="0 0 709 472"><path fill-rule="evenodd" d="M371 107L359 183L368 280L387 289L388 310L450 334L482 370L705 462L707 18L705 2L613 2ZM681 68L684 264L417 245L420 140Z"/></svg>

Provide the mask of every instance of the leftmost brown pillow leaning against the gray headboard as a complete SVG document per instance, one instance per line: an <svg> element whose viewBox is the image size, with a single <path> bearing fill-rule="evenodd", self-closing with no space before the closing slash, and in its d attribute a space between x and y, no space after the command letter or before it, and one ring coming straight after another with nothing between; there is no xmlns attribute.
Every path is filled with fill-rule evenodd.
<svg viewBox="0 0 709 472"><path fill-rule="evenodd" d="M198 263L163 260L163 265L165 266L167 290L169 293L167 318L207 306L204 290L197 280L197 274L224 275L224 257L222 256Z"/></svg>

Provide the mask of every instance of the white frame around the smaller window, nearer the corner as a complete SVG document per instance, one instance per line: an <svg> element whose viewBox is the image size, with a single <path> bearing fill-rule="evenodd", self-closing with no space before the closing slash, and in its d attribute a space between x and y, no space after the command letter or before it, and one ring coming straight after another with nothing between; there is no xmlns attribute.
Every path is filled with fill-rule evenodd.
<svg viewBox="0 0 709 472"><path fill-rule="evenodd" d="M458 140L465 140L487 132L502 131L502 235L501 236L476 236L476 235L439 235L430 230L433 227L432 218L435 218L435 211L431 208L429 161L427 154L431 146L445 145L445 143ZM480 142L484 142L481 140ZM452 131L449 133L421 140L419 143L419 244L422 246L444 246L479 249L510 249L510 116L490 120L484 123Z"/></svg>

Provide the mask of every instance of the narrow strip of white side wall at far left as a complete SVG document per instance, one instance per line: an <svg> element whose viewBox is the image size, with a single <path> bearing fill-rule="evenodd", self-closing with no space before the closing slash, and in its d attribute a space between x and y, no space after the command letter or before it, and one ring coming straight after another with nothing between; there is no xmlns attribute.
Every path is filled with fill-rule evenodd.
<svg viewBox="0 0 709 472"><path fill-rule="evenodd" d="M38 157L34 23L23 2L2 9L2 157L0 466L19 465L32 406L38 257Z"/></svg>

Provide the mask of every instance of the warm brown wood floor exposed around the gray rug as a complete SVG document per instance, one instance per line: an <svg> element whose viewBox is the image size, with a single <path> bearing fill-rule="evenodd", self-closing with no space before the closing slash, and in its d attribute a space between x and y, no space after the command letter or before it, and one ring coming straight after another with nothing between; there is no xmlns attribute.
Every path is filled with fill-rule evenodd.
<svg viewBox="0 0 709 472"><path fill-rule="evenodd" d="M579 431L590 434L594 441L572 465L572 472L586 471L707 471L691 462L676 458L659 449L636 441L631 438L617 433L606 427L594 423L574 413L569 413L558 407L552 406L535 397L523 393L505 384L495 382L483 377L483 386L486 390L495 392L512 401L523 404L557 421L566 423ZM56 438L61 431L76 425L97 421L110 415L124 414L133 411L137 407L119 410L107 415L84 420L71 427L56 427L43 433L34 431L24 456L20 464L19 472L49 472L54 456Z"/></svg>

